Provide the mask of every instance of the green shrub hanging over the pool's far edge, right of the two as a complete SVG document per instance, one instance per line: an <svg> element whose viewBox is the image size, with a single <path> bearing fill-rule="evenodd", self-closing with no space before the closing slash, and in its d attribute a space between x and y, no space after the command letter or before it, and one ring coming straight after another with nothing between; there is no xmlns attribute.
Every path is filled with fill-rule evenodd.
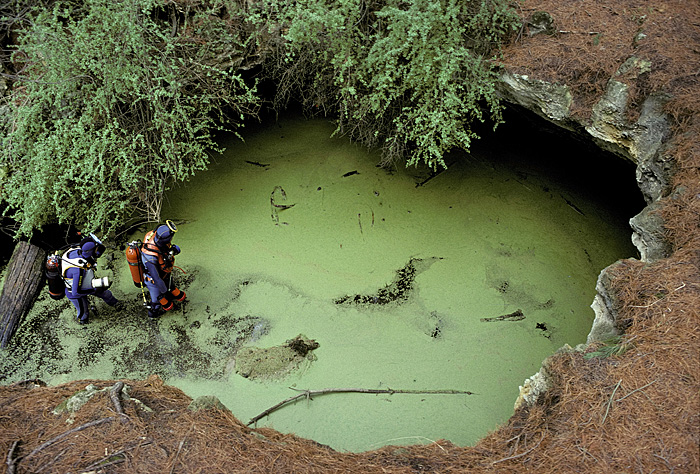
<svg viewBox="0 0 700 474"><path fill-rule="evenodd" d="M470 124L499 123L489 59L518 25L507 0L264 2L285 49L270 66L278 103L338 113L339 133L381 146L385 164L445 166Z"/></svg>

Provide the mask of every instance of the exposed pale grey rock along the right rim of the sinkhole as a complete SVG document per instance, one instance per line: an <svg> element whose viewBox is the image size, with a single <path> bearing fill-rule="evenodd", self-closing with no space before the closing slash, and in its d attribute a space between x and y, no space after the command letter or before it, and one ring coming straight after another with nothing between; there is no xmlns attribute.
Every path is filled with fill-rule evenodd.
<svg viewBox="0 0 700 474"><path fill-rule="evenodd" d="M509 71L501 73L499 94L511 104L521 106L552 125L595 143L602 150L636 165L636 180L647 206L629 221L632 243L642 261L653 262L670 254L664 239L663 221L654 211L658 200L670 192L673 162L665 153L670 137L669 120L663 112L668 97L651 95L642 104L639 118L628 120L629 88L617 76L636 70L644 72L649 64L634 57L627 60L609 81L605 94L593 106L589 119L572 116L573 95L565 84L552 84L531 79ZM591 304L595 319L586 344L609 340L620 335L616 324L616 302L610 289L609 269L603 269L596 284L596 296ZM583 350L585 346L561 350ZM520 387L515 409L532 405L549 388L547 361Z"/></svg>

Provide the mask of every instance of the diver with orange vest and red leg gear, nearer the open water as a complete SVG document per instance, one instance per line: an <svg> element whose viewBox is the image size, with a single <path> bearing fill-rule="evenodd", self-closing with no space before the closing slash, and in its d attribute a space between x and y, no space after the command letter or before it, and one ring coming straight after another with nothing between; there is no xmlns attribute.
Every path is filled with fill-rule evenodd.
<svg viewBox="0 0 700 474"><path fill-rule="evenodd" d="M175 255L180 253L180 247L171 243L175 232L177 227L168 220L143 238L143 282L151 296L148 317L152 319L173 309L174 301L185 301L185 292L175 286L172 276Z"/></svg>

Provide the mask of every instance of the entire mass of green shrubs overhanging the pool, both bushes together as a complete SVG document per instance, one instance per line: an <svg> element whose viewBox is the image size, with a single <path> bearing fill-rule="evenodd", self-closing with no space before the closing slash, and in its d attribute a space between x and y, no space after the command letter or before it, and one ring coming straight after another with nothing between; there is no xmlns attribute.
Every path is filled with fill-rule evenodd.
<svg viewBox="0 0 700 474"><path fill-rule="evenodd" d="M238 71L258 58L277 107L335 114L385 164L445 166L474 120L500 120L489 60L516 26L508 1L57 0L28 15L44 2L13 0L22 15L2 25L24 30L0 125L4 214L25 235L158 220L168 186L219 151L212 133L257 111Z"/></svg>

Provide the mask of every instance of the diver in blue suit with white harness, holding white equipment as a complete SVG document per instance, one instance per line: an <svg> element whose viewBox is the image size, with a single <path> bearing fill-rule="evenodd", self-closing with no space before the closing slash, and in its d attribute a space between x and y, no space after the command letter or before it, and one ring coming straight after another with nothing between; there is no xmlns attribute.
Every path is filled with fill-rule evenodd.
<svg viewBox="0 0 700 474"><path fill-rule="evenodd" d="M61 276L65 283L65 295L77 310L80 324L87 324L90 316L88 295L102 298L109 306L117 307L117 300L109 288L107 277L95 278L97 259L104 253L105 246L90 234L79 245L69 248L61 257Z"/></svg>

